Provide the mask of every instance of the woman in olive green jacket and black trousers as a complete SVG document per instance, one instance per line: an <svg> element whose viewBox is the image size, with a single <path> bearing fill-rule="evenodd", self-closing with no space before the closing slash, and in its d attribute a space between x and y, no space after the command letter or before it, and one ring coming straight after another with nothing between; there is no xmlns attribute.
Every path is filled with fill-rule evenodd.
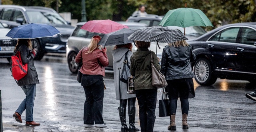
<svg viewBox="0 0 256 132"><path fill-rule="evenodd" d="M138 99L140 128L142 132L153 132L155 123L157 88L152 85L151 56L154 66L160 70L156 54L148 48L150 42L136 41L136 52L131 57L130 71L134 76L134 87Z"/></svg>

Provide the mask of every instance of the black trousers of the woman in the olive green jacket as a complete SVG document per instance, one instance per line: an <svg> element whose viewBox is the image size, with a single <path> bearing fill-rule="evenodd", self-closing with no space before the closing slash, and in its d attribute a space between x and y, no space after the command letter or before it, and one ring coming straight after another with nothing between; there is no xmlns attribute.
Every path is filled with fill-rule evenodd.
<svg viewBox="0 0 256 132"><path fill-rule="evenodd" d="M153 132L156 120L157 89L136 90L138 99L140 128L142 132Z"/></svg>

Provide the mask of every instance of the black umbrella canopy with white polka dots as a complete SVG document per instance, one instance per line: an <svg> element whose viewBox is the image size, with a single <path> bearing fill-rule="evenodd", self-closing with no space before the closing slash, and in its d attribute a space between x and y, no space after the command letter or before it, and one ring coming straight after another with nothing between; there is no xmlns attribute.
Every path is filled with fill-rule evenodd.
<svg viewBox="0 0 256 132"><path fill-rule="evenodd" d="M178 30L162 26L153 26L134 31L128 39L144 42L174 43L188 38Z"/></svg>

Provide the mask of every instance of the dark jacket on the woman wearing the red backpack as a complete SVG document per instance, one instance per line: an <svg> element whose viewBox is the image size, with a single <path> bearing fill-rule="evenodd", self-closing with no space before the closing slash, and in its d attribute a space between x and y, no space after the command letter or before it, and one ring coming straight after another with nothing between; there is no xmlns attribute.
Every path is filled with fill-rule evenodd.
<svg viewBox="0 0 256 132"><path fill-rule="evenodd" d="M17 48L20 51L20 57L22 60L22 64L28 64L28 74L24 76L22 79L18 80L18 85L29 85L39 83L38 75L36 72L36 68L34 66L34 54L31 53L26 45L18 45ZM14 51L16 54L16 51Z"/></svg>

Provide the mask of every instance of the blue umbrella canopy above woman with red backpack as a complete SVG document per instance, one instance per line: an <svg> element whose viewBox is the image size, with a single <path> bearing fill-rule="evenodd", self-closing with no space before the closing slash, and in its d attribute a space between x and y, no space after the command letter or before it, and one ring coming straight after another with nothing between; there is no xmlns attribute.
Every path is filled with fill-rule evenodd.
<svg viewBox="0 0 256 132"><path fill-rule="evenodd" d="M51 25L30 23L12 28L6 36L11 37L12 39L35 39L52 37L59 33L60 31Z"/></svg>

